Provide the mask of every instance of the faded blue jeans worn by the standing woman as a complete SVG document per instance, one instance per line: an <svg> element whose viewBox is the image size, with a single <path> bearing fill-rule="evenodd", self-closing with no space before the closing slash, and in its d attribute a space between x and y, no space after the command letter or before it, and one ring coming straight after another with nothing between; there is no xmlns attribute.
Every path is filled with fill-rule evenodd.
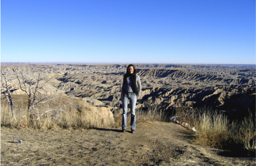
<svg viewBox="0 0 256 166"><path fill-rule="evenodd" d="M128 108L128 99L130 101L131 109L131 129L135 130L136 128L136 117L135 117L135 106L137 102L137 96L135 93L124 93L122 97L123 103L123 116L122 116L122 128L126 130L126 120L127 120L127 108Z"/></svg>

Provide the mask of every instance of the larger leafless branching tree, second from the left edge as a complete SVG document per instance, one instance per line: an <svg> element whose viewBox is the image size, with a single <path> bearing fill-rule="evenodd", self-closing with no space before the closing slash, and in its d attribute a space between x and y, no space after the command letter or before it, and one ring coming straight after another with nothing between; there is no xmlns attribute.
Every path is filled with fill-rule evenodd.
<svg viewBox="0 0 256 166"><path fill-rule="evenodd" d="M17 78L20 89L28 96L28 118L29 122L33 124L47 113L59 110L69 98L61 102L61 97L56 92L47 94L43 87L51 78L46 78L41 68L37 70L31 66L28 67L28 73L21 70L18 72ZM35 110L37 110L37 114L35 114Z"/></svg>

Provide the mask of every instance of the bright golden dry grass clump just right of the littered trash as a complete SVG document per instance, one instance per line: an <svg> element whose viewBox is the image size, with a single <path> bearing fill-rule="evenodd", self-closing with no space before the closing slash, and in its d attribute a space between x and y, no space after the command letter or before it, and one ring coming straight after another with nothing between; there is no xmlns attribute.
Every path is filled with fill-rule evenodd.
<svg viewBox="0 0 256 166"><path fill-rule="evenodd" d="M176 109L175 115L177 120L196 128L195 143L221 148L227 142L228 119L217 111L180 107Z"/></svg>

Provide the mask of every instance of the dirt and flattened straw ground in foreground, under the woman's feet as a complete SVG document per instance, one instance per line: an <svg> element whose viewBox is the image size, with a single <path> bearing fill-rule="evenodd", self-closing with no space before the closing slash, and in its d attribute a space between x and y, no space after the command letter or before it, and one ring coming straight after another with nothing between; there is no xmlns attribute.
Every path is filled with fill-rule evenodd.
<svg viewBox="0 0 256 166"><path fill-rule="evenodd" d="M1 165L255 165L254 157L189 143L188 130L151 122L119 129L48 130L1 127ZM23 139L23 143L13 143ZM222 155L220 155L222 154Z"/></svg>

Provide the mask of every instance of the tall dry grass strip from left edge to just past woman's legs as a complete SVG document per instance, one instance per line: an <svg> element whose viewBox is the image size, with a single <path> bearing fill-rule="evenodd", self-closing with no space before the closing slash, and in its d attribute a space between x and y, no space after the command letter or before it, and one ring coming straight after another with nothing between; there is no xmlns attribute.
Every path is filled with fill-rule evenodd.
<svg viewBox="0 0 256 166"><path fill-rule="evenodd" d="M24 97L24 96L21 96ZM34 110L34 119L31 121L28 116L27 101L24 98L16 98L15 119L8 103L1 100L1 126L19 128L26 126L37 129L55 128L102 128L120 127L122 123L122 108L116 107L109 111L107 108L94 107L81 100L59 97L54 102L38 104ZM145 109L145 108L144 108ZM130 112L128 109L127 124L130 124ZM138 105L136 109L136 123L148 121L165 121L163 109L160 105L151 105L146 110Z"/></svg>

